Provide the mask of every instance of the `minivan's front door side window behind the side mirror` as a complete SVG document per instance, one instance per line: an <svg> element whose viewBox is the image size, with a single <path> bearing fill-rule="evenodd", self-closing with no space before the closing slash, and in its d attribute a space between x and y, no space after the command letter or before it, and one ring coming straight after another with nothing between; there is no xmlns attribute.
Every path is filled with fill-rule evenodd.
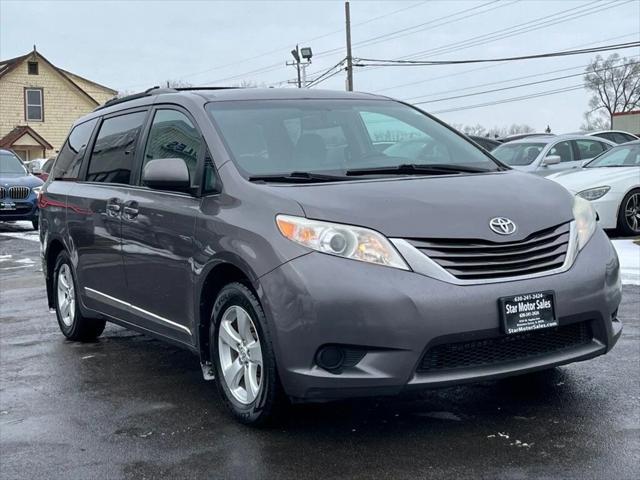
<svg viewBox="0 0 640 480"><path fill-rule="evenodd" d="M189 118L177 110L158 110L153 117L144 152L143 166L159 158L182 158L191 182L196 178L202 137Z"/></svg>

